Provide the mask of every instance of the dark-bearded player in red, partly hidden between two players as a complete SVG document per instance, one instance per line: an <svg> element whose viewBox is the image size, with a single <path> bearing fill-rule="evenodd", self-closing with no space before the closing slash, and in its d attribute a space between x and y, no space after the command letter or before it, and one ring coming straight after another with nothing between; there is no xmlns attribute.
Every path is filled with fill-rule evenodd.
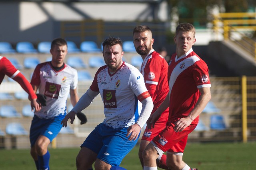
<svg viewBox="0 0 256 170"><path fill-rule="evenodd" d="M143 62L140 69L144 77L146 88L152 97L154 108L152 113L162 104L166 98L169 87L167 79L168 64L159 53L154 51L152 31L146 25L140 25L133 29L133 42L137 53L142 57ZM139 158L143 167L142 153L148 143L158 135L165 127L168 121L169 107L163 111L162 115L156 121L154 128L146 127L142 140L140 142ZM159 168L167 169L166 155L161 155L157 159Z"/></svg>

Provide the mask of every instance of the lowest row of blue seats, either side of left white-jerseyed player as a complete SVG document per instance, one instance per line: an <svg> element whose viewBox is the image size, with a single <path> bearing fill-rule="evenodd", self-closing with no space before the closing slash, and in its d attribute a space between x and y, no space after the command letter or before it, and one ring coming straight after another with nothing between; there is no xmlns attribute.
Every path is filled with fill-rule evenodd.
<svg viewBox="0 0 256 170"><path fill-rule="evenodd" d="M61 134L74 134L74 130L71 129L70 126L63 127L60 130ZM0 129L0 136L5 136L5 135L28 135L29 132L23 127L23 125L19 122L11 122L6 125L5 131L2 131Z"/></svg>

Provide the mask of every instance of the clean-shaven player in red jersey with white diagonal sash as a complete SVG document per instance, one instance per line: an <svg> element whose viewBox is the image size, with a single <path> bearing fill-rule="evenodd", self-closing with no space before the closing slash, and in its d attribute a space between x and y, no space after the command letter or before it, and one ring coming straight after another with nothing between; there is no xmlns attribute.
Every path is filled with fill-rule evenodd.
<svg viewBox="0 0 256 170"><path fill-rule="evenodd" d="M166 128L149 143L143 152L144 170L156 170L156 158L166 152L166 164L171 170L195 170L183 160L188 134L198 124L199 115L211 99L206 63L194 53L195 28L181 23L174 37L176 54L168 67L169 94L147 121L148 127L169 106Z"/></svg>

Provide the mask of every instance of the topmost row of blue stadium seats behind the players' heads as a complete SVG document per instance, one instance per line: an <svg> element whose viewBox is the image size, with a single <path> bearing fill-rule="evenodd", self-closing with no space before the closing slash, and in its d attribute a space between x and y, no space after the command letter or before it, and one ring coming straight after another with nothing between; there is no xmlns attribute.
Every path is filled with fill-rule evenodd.
<svg viewBox="0 0 256 170"><path fill-rule="evenodd" d="M99 53L102 52L101 48L94 41L83 41L80 48L77 47L73 41L67 41L69 53ZM16 49L8 42L0 42L0 53L50 53L51 42L43 41L38 43L37 49L28 41L22 41L16 44ZM133 41L124 41L123 50L125 52L136 52Z"/></svg>

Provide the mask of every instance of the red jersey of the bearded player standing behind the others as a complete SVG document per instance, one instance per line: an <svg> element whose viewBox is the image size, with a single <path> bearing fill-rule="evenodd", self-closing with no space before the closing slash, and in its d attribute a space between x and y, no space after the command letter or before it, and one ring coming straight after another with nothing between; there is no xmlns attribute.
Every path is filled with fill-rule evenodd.
<svg viewBox="0 0 256 170"><path fill-rule="evenodd" d="M144 77L146 88L153 100L154 109L152 113L154 113L169 92L168 64L164 57L152 49L143 60L140 72ZM166 111L168 112L168 109Z"/></svg>

